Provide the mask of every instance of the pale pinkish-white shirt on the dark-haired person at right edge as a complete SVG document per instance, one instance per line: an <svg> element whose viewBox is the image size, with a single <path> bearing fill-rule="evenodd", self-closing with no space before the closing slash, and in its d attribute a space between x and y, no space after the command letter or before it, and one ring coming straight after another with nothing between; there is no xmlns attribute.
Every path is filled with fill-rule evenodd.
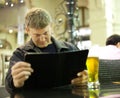
<svg viewBox="0 0 120 98"><path fill-rule="evenodd" d="M92 47L89 51L89 56L98 56L99 59L116 60L120 59L120 49L115 45Z"/></svg>

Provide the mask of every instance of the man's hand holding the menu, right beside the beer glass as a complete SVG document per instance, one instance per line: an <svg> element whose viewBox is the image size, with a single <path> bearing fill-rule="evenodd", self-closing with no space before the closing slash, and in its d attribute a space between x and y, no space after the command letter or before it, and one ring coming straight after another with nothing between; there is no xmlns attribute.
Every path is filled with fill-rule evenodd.
<svg viewBox="0 0 120 98"><path fill-rule="evenodd" d="M71 84L73 86L84 86L87 85L87 81L88 81L88 73L87 70L84 70L82 72L79 72L77 74L78 78L75 78L71 81Z"/></svg>

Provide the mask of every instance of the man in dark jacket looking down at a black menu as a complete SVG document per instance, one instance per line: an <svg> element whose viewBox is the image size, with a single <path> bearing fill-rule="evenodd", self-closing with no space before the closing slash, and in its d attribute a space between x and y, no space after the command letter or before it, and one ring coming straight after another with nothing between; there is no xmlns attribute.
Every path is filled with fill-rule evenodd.
<svg viewBox="0 0 120 98"><path fill-rule="evenodd" d="M25 81L34 72L31 65L24 61L28 52L64 52L78 50L74 45L60 42L52 37L52 20L49 13L41 8L32 8L25 17L25 29L31 40L24 46L17 48L10 59L10 68L6 76L5 86L8 92L22 88ZM78 73L78 78L73 79L73 85L86 83L87 72Z"/></svg>

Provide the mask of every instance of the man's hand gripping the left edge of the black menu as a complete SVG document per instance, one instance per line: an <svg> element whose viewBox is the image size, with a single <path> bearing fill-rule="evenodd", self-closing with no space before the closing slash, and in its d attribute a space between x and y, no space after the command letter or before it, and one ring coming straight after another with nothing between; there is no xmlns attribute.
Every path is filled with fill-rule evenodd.
<svg viewBox="0 0 120 98"><path fill-rule="evenodd" d="M22 87L25 80L29 78L33 69L31 65L26 62L18 62L11 68L11 73L13 77L13 84L15 87Z"/></svg>

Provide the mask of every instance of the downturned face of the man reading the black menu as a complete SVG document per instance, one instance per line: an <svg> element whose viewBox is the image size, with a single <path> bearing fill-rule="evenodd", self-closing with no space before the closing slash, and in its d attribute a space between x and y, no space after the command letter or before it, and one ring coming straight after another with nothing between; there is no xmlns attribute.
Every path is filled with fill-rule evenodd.
<svg viewBox="0 0 120 98"><path fill-rule="evenodd" d="M52 28L50 25L43 29L27 28L26 31L37 47L44 48L51 44Z"/></svg>

